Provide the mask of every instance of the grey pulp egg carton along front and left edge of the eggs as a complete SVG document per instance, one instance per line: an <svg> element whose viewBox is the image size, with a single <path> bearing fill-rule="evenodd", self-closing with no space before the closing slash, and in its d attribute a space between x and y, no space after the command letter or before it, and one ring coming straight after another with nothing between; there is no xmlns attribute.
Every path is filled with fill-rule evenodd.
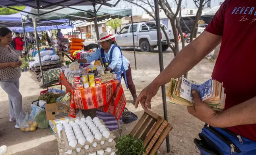
<svg viewBox="0 0 256 155"><path fill-rule="evenodd" d="M114 148L116 145L116 142L114 142L115 136L110 135L109 137L111 137L113 139L112 142L108 142L108 139L110 139L110 138L102 137L101 140L94 139L92 143L86 141L83 146L81 144L76 144L75 147L71 147L71 146L69 146L69 142L68 142L68 139L66 136L65 129L62 130L62 138L63 138L64 144L65 144L65 151L68 151L68 150L75 151L77 148L84 148L86 145L89 145L89 149L85 150L86 153L93 153L95 151L106 149L107 147ZM101 145L101 141L103 141L103 140L105 141L105 143L103 145ZM95 143L95 142L97 142L97 146L93 147L93 143Z"/></svg>

